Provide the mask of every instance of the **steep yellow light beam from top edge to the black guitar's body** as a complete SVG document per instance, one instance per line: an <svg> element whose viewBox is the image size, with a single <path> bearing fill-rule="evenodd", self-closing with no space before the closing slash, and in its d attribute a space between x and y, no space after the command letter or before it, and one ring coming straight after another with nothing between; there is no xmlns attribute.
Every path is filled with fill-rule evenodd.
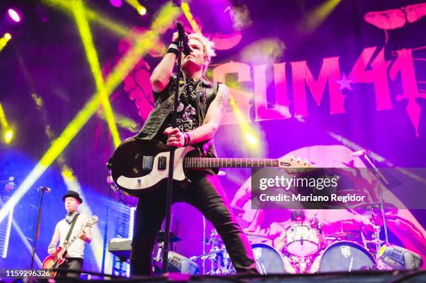
<svg viewBox="0 0 426 283"><path fill-rule="evenodd" d="M92 70L93 77L95 78L95 85L97 92L100 94L100 100L105 111L105 118L111 131L113 137L113 142L116 147L120 145L120 134L118 134L117 125L114 119L114 114L111 108L111 103L109 102L108 94L105 90L104 78L102 77L102 72L97 58L97 52L95 45L93 44L92 34L90 33L90 27L84 13L84 5L81 0L75 3L73 10L75 22L77 23L77 28L81 36L81 41L83 42L84 49L86 51L86 56L90 69Z"/></svg>

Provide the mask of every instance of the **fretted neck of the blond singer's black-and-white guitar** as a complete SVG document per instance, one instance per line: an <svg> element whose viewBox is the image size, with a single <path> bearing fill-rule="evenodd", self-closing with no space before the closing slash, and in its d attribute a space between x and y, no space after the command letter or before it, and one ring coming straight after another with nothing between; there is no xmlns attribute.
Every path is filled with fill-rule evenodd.
<svg viewBox="0 0 426 283"><path fill-rule="evenodd" d="M236 167L279 167L278 159L227 159L207 157L186 157L184 168L236 168Z"/></svg>

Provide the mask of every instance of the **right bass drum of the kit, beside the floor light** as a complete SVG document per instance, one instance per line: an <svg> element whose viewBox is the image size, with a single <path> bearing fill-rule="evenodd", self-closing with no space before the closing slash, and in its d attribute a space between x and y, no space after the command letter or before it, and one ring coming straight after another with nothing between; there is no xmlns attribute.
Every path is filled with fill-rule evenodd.
<svg viewBox="0 0 426 283"><path fill-rule="evenodd" d="M353 271L371 268L376 264L368 250L358 243L339 241L329 245L310 266L309 273Z"/></svg>

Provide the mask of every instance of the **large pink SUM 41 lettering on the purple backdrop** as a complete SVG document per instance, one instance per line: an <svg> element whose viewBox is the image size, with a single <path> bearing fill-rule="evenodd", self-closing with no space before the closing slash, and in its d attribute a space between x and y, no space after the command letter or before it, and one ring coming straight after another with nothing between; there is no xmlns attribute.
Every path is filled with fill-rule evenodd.
<svg viewBox="0 0 426 283"><path fill-rule="evenodd" d="M425 47L426 48L426 47ZM418 49L423 49L420 47ZM407 114L418 136L418 124L420 120L420 105L418 98L426 98L426 93L420 93L417 88L416 72L413 64L413 49L402 49L394 52L395 60L386 60L384 49L367 47L354 63L347 76L340 70L340 56L323 58L322 66L317 78L313 76L305 61L273 64L275 83L275 102L270 106L267 101L266 65L253 66L253 86L255 104L255 122L262 120L276 120L285 118L308 117L307 91L310 90L315 103L319 106L324 98L324 91L328 85L330 114L345 113L345 95L342 90L352 90L356 83L371 83L374 86L376 110L383 111L393 109L391 103L389 81L402 81L402 93L395 99L407 100ZM286 69L291 69L291 81L287 80ZM225 81L226 74L237 74L237 80L241 82L252 81L251 66L245 63L230 62L214 68L214 81ZM389 74L389 75L388 75ZM400 76L398 76L400 75ZM290 113L290 98L287 93L287 83L291 83L292 104L294 113ZM232 98L235 99L242 111L246 122L250 122L249 106L253 94L242 90L231 89ZM235 124L237 119L234 113L226 113L223 124Z"/></svg>

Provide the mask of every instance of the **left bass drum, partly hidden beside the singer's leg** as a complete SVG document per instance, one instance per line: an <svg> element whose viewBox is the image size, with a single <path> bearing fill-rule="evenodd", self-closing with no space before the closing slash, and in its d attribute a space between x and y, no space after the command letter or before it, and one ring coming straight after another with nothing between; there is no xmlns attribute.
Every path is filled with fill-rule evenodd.
<svg viewBox="0 0 426 283"><path fill-rule="evenodd" d="M296 273L290 260L270 245L254 243L251 248L260 274Z"/></svg>

